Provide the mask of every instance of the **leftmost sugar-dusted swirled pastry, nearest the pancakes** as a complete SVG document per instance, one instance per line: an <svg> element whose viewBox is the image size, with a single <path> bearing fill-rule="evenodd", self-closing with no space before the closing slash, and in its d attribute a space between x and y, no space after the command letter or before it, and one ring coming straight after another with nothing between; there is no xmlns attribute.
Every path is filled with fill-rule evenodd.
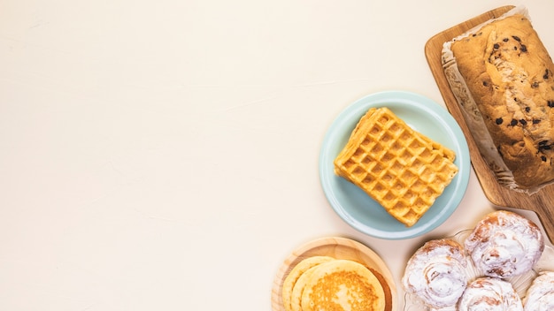
<svg viewBox="0 0 554 311"><path fill-rule="evenodd" d="M427 307L456 305L466 289L467 259L452 239L433 239L410 258L404 271L404 291L418 296Z"/></svg>

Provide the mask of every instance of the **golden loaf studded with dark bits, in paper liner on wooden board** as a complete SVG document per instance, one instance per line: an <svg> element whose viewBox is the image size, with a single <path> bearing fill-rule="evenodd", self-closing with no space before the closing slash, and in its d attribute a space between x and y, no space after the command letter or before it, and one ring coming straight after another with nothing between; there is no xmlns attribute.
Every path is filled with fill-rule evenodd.
<svg viewBox="0 0 554 311"><path fill-rule="evenodd" d="M554 181L554 64L527 10L446 42L442 65L500 184L534 193Z"/></svg>

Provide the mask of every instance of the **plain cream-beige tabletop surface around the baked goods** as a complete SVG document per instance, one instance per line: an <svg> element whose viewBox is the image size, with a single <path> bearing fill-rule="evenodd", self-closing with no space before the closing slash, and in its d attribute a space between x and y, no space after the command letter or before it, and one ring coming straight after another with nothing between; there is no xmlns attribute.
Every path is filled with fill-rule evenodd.
<svg viewBox="0 0 554 311"><path fill-rule="evenodd" d="M442 104L427 40L522 3L554 51L547 0L0 0L0 309L270 310L289 252L334 235L399 279L492 207L472 172L435 231L365 236L322 193L323 135L373 92Z"/></svg>

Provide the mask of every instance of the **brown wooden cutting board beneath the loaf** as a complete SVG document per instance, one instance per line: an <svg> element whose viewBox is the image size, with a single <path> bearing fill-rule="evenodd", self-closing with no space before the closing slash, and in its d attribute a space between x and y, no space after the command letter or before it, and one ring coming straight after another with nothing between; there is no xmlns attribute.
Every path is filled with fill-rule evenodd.
<svg viewBox="0 0 554 311"><path fill-rule="evenodd" d="M489 166L481 157L479 149L473 140L473 136L466 125L462 112L458 107L458 102L456 102L456 98L450 91L448 81L446 80L444 72L442 72L441 50L444 42L449 42L459 34L463 34L467 30L489 19L494 19L504 12L510 11L512 8L512 5L496 8L495 10L485 12L473 19L466 20L442 33L435 34L425 45L425 55L436 83L441 90L442 99L446 107L450 111L450 114L458 121L458 124L466 135L473 170L477 178L479 178L481 187L489 201L498 207L534 211L539 217L550 242L554 242L554 185L545 186L538 193L529 195L512 191L504 186L500 186L496 182L496 178L492 171L489 170Z"/></svg>

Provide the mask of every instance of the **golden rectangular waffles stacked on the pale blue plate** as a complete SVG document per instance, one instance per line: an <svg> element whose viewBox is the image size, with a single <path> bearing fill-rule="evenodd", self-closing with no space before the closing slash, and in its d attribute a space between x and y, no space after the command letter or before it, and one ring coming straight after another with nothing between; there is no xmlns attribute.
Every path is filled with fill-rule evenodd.
<svg viewBox="0 0 554 311"><path fill-rule="evenodd" d="M412 130L388 108L372 108L335 158L335 174L410 227L458 173L455 157L454 151Z"/></svg>

